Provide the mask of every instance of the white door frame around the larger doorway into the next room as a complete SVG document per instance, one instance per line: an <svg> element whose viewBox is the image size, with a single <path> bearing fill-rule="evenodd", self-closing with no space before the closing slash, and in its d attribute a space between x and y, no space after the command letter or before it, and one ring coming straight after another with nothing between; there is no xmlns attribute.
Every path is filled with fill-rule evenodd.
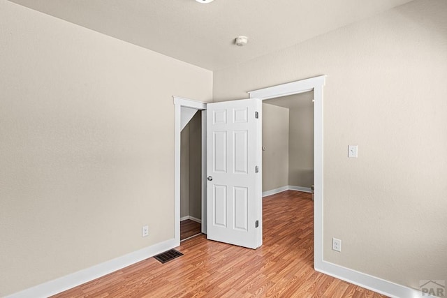
<svg viewBox="0 0 447 298"><path fill-rule="evenodd" d="M249 91L261 100L314 91L314 268L323 264L323 86L325 75Z"/></svg>

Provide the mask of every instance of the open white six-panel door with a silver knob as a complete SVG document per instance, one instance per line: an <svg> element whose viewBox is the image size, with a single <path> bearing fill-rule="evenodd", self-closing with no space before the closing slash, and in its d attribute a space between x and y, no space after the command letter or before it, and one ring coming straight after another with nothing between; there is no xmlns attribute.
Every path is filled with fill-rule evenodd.
<svg viewBox="0 0 447 298"><path fill-rule="evenodd" d="M207 104L208 239L262 245L261 109L258 99Z"/></svg>

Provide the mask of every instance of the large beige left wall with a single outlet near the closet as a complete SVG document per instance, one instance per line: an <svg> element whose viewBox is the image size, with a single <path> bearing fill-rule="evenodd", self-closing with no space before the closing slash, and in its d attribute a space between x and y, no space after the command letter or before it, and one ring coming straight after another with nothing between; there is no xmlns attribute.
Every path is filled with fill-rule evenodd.
<svg viewBox="0 0 447 298"><path fill-rule="evenodd" d="M5 0L0 40L0 297L172 239L172 96L212 73Z"/></svg>

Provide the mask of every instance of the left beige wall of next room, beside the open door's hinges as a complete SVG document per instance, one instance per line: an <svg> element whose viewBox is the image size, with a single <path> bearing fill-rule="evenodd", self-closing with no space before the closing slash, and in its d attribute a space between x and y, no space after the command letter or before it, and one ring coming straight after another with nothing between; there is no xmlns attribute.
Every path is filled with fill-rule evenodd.
<svg viewBox="0 0 447 298"><path fill-rule="evenodd" d="M263 191L288 185L288 109L263 103Z"/></svg>

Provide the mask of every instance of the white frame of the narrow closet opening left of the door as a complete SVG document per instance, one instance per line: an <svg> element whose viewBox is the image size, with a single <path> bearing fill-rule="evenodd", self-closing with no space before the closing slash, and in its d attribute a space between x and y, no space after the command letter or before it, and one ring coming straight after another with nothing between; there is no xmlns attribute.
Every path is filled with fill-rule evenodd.
<svg viewBox="0 0 447 298"><path fill-rule="evenodd" d="M175 142L174 142L174 240L177 246L180 245L180 135L182 133L181 115L182 107L190 107L196 110L206 110L207 104L200 101L173 96L175 104ZM205 122L203 116L205 115ZM205 127L203 124L205 123ZM204 135L206 137L206 113L202 113L202 210L206 210L206 188L203 183L206 175L206 142L205 151L203 149ZM205 158L205 159L204 159ZM205 201L205 202L204 202ZM205 214L206 216L206 214ZM202 211L202 232L206 232L206 217Z"/></svg>

